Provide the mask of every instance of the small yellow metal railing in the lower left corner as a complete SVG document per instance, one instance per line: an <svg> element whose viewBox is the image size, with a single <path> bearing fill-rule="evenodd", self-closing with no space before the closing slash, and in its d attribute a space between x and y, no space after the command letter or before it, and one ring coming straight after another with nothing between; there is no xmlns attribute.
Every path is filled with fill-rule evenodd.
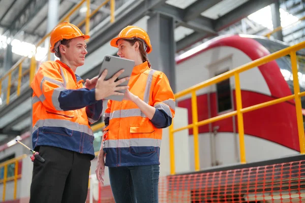
<svg viewBox="0 0 305 203"><path fill-rule="evenodd" d="M0 184L3 184L3 193L2 193L2 200L5 200L5 195L6 195L6 186L8 181L14 181L14 199L17 197L17 180L21 178L21 174L18 174L18 163L20 160L23 158L27 157L26 154L23 154L17 158L10 159L8 161L5 161L3 163L0 163L0 168L4 167L4 176L3 179L0 179ZM15 168L14 168L14 176L8 177L8 166L10 164L15 163Z"/></svg>

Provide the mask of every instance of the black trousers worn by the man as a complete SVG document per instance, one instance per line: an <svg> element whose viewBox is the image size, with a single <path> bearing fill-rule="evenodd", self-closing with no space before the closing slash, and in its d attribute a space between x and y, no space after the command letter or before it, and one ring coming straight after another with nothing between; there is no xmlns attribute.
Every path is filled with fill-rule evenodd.
<svg viewBox="0 0 305 203"><path fill-rule="evenodd" d="M50 146L40 146L37 151L45 162L34 160L29 203L84 203L89 155Z"/></svg>

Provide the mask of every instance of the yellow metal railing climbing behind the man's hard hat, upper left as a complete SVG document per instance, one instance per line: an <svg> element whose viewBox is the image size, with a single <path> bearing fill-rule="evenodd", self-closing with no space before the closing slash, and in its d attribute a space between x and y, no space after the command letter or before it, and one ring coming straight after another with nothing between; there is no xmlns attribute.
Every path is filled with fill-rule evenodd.
<svg viewBox="0 0 305 203"><path fill-rule="evenodd" d="M70 17L72 14L74 14L77 10L80 9L80 7L86 2L86 7L87 7L87 12L86 16L83 21L81 21L79 24L77 24L78 27L82 26L85 23L85 34L88 35L89 30L90 30L90 18L92 18L103 6L105 6L107 3L110 2L110 22L114 22L114 9L115 9L115 1L114 0L106 0L103 2L98 8L96 8L94 11L90 12L90 0L82 0L79 2L75 7L73 7L69 13L67 13L62 19L59 20L58 23L60 22L69 22ZM35 46L36 46L36 51L37 53L37 48L40 45L43 45L46 39L49 38L50 33L47 33ZM36 73L36 59L35 59L35 53L33 53L33 57L31 58L31 62L28 66L28 69L25 71L22 69L22 67L27 67L24 62L26 62L27 57L22 57L17 63L15 63L11 69L0 78L0 99L2 93L6 95L6 104L8 105L10 103L10 97L13 93L17 93L17 97L20 95L20 88L23 84L28 84L30 85L34 75ZM50 60L51 53L50 50L48 49L47 52L47 59ZM23 64L23 65L22 65ZM18 72L18 73L17 73ZM4 81L7 81L5 86L3 84ZM2 99L1 99L2 101ZM0 102L1 105L1 102Z"/></svg>

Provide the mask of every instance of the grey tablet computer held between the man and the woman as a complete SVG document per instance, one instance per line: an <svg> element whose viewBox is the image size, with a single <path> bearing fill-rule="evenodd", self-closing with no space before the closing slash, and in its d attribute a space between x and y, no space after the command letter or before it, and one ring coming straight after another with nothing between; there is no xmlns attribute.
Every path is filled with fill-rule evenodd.
<svg viewBox="0 0 305 203"><path fill-rule="evenodd" d="M117 78L117 80L119 80L121 78L125 78L125 77L130 77L134 66L135 66L135 61L133 61L133 60L129 60L126 58L120 58L117 56L106 55L101 64L99 77L101 77L101 75L105 69L108 70L105 80L110 79L114 74L116 74L121 69L125 69L125 71L123 74L121 74ZM128 82L129 82L129 80L125 81L124 83L121 83L119 86L127 86ZM125 91L126 90L124 89L124 90L119 90L118 92L125 93ZM111 95L111 96L106 97L106 99L116 100L116 101L121 101L121 100L123 100L123 98L124 98L124 95Z"/></svg>

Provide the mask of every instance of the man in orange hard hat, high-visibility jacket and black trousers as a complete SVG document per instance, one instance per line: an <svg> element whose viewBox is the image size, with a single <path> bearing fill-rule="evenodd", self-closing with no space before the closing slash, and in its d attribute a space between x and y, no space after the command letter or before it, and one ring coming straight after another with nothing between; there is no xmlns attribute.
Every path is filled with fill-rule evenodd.
<svg viewBox="0 0 305 203"><path fill-rule="evenodd" d="M104 81L105 71L83 87L75 71L84 64L86 39L71 23L57 25L50 34L50 50L60 60L42 63L31 84L33 148L45 159L34 160L31 203L85 202L95 158L90 124L99 120L103 98L128 88L117 87L128 78L114 82L123 71Z"/></svg>

